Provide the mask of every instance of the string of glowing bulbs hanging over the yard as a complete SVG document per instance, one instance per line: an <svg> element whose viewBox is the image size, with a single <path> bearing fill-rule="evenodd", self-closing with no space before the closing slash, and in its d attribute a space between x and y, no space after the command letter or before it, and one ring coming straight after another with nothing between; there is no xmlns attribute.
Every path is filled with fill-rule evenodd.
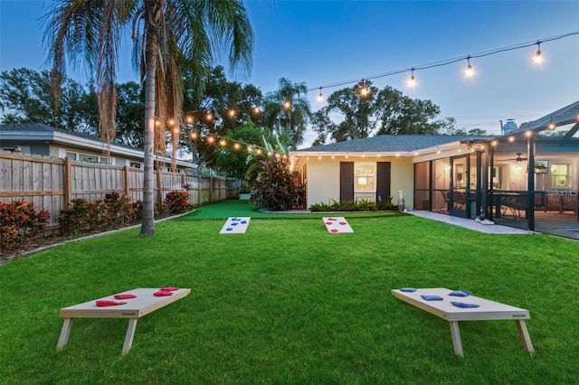
<svg viewBox="0 0 579 385"><path fill-rule="evenodd" d="M323 102L324 101L323 89L334 89L334 88L346 86L349 84L360 83L361 87L360 87L360 89L358 89L358 92L359 92L361 98L365 98L369 94L369 89L367 87L366 80L375 80L375 79L380 79L380 78L384 78L384 77L388 77L388 76L398 75L401 73L410 72L410 77L408 78L407 85L408 85L408 87L413 88L416 86L416 76L414 75L415 72L418 72L419 70L429 70L429 69L436 68L436 67L448 66L448 65L451 65L451 64L459 62L459 61L466 61L467 62L466 68L464 70L464 75L466 77L470 78L474 75L474 68L471 64L471 61L474 61L475 59L482 58L485 56L495 55L495 54L498 54L501 52L520 50L520 49L524 49L527 47L533 47L533 46L536 46L534 61L536 64L540 64L543 60L543 52L541 52L541 44L546 43L546 42L553 42L555 40L564 39L566 37L574 36L577 34L579 34L579 31L574 31L574 32L570 32L570 33L563 33L563 34L559 34L559 35L555 35L555 36L551 36L551 37L546 37L543 39L538 39L538 40L536 40L536 42L535 41L534 42L522 42L522 43L518 43L515 45L510 45L508 47L503 47L503 48L493 49L493 50L489 50L489 51L485 51L485 52L469 54L467 56L461 56L461 57L453 58L453 59L434 61L434 62L427 63L427 64L422 64L422 65L413 66L410 68L405 68L403 70L392 70L392 71L388 71L388 72L384 72L384 73L379 73L379 74L367 76L367 77L363 78L362 80L356 79L356 80L337 81L335 83L330 83L330 84L326 84L326 85L322 85L322 86L308 89L307 92L319 90L318 101ZM285 100L283 102L283 108L285 108L286 110L289 110L291 108L291 101L289 99ZM166 119L166 117L156 117L156 125L160 126L161 121L166 120L168 127L173 127L172 130L173 130L173 133L175 135L179 135L180 131L182 129L185 129L185 130L189 131L189 138L192 141L205 140L207 142L207 144L209 144L209 145L217 144L218 146L222 146L222 147L225 147L228 145L228 143L231 143L233 146L233 150L235 150L235 151L239 151L242 149L242 147L245 147L249 153L252 153L253 151L255 151L256 154L261 155L261 153L263 151L263 148L261 146L250 145L250 144L246 144L246 143L243 143L243 142L240 142L237 140L226 139L224 137L217 137L217 136L213 136L213 135L205 136L204 138L202 138L200 136L200 134L197 132L197 130L195 129L195 117L193 117L193 114L198 113L198 112L202 112L202 111L196 110L196 111L190 111L188 113L185 113L185 114L183 114L183 116L178 117L178 122L176 122L174 118ZM261 114L260 106L258 106L258 105L254 106L254 108L252 109L252 112L255 115ZM230 118L234 118L237 116L237 111L233 107L229 108L227 115ZM211 110L205 111L204 118L207 122L211 122L214 120L214 115L211 113ZM577 119L579 120L579 115L578 115ZM549 129L555 129L555 125L553 123L551 123L551 125L549 125ZM271 156L272 154L268 153L268 155ZM280 155L280 154L275 154L275 156L276 157L280 157L280 156L285 157L285 155Z"/></svg>

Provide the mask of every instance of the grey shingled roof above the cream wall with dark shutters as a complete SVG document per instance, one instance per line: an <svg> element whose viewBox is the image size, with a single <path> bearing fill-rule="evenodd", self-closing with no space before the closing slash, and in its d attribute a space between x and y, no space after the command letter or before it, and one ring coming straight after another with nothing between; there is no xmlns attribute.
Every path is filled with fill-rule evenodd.
<svg viewBox="0 0 579 385"><path fill-rule="evenodd" d="M489 140L494 136L379 135L292 151L311 153L411 153L424 148L457 144L464 140Z"/></svg>

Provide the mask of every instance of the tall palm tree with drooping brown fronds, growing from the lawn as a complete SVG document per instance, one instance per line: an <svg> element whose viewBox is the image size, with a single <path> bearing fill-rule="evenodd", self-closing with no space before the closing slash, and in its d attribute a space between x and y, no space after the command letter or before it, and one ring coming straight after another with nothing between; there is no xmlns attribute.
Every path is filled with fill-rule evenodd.
<svg viewBox="0 0 579 385"><path fill-rule="evenodd" d="M199 96L214 52L227 47L231 67L252 65L253 33L242 0L59 0L46 14L45 42L52 61L52 89L60 94L66 57L96 72L100 133L115 136L116 68L122 31L132 30L134 64L145 83L145 168L140 234L153 235L156 146L165 146L165 123L182 117L183 70L195 74ZM55 106L58 108L58 104ZM156 130L156 117L160 117ZM177 124L177 123L175 123ZM178 129L178 128L177 128Z"/></svg>

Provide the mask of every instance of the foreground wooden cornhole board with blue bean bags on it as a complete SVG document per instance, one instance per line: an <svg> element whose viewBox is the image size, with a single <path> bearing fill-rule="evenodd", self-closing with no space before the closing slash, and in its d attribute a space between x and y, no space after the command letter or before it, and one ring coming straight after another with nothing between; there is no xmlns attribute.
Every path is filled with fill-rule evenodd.
<svg viewBox="0 0 579 385"><path fill-rule="evenodd" d="M527 352L534 352L533 343L531 343L531 337L527 331L527 324L525 324L525 320L531 318L528 310L489 301L479 296L449 296L452 291L443 287L416 289L411 293L393 289L392 294L410 305L449 321L454 352L460 357L464 357L464 352L460 342L459 321L514 320L517 323L523 346ZM422 296L441 296L443 299L442 301L427 301ZM451 301L479 305L479 307L458 307L452 305Z"/></svg>

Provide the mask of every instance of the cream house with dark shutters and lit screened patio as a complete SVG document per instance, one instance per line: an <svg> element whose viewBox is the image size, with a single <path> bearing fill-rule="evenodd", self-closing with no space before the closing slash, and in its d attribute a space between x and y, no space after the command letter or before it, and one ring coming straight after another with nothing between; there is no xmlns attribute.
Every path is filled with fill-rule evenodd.
<svg viewBox="0 0 579 385"><path fill-rule="evenodd" d="M511 214L534 230L535 211L551 211L553 193L574 196L566 213L579 221L578 131L579 101L503 136L374 136L291 151L289 159L308 206L392 196L411 210L463 218Z"/></svg>

